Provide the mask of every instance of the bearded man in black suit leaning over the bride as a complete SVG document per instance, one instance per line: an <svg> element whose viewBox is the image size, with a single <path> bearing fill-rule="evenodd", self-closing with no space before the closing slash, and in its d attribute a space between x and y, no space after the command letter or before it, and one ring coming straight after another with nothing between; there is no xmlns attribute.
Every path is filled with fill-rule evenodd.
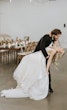
<svg viewBox="0 0 67 110"><path fill-rule="evenodd" d="M62 34L61 30L59 29L54 29L50 32L50 34L44 35L38 42L34 52L41 50L44 57L46 58L46 65L47 61L49 59L49 55L46 52L46 47L48 47L52 42L56 41L59 39L59 36ZM49 69L49 92L53 93L53 89L51 87L51 74L50 74L50 69Z"/></svg>

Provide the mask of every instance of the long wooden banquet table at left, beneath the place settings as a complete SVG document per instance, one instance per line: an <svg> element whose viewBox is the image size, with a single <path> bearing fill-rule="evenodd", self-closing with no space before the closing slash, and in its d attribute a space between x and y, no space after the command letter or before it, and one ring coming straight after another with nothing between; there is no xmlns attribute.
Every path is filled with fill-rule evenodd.
<svg viewBox="0 0 67 110"><path fill-rule="evenodd" d="M20 47L0 47L0 63L13 63L17 61L17 54L21 51Z"/></svg>

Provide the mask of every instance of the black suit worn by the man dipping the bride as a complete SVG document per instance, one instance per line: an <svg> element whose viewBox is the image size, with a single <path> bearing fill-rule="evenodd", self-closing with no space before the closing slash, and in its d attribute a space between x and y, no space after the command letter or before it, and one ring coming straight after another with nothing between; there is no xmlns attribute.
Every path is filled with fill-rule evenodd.
<svg viewBox="0 0 67 110"><path fill-rule="evenodd" d="M41 50L43 55L45 57L48 56L46 52L46 47L48 47L51 43L53 42L52 37L50 37L48 34L44 35L40 41L38 42L34 52ZM46 64L47 64L48 59L46 59ZM50 70L49 70L49 90L51 89L51 75L50 75Z"/></svg>

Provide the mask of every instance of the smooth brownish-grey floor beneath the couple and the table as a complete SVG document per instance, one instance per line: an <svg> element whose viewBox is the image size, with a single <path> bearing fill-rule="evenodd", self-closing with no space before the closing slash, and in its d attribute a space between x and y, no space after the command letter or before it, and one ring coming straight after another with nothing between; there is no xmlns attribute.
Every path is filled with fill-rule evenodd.
<svg viewBox="0 0 67 110"><path fill-rule="evenodd" d="M0 110L67 110L67 49L59 63L58 70L51 67L53 94L40 101L0 97ZM0 91L16 86L12 77L16 67L16 64L0 64Z"/></svg>

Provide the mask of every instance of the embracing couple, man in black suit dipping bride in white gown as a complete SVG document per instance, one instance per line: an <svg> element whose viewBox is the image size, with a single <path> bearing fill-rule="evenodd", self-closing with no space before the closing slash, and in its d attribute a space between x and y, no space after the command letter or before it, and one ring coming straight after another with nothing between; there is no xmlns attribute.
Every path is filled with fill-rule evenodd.
<svg viewBox="0 0 67 110"><path fill-rule="evenodd" d="M52 30L50 34L46 34L40 39L33 53L23 57L13 73L13 78L17 82L16 88L2 90L2 97L29 97L41 100L46 98L49 92L53 92L50 64L56 53L64 53L61 47L56 46L61 34L59 29Z"/></svg>

